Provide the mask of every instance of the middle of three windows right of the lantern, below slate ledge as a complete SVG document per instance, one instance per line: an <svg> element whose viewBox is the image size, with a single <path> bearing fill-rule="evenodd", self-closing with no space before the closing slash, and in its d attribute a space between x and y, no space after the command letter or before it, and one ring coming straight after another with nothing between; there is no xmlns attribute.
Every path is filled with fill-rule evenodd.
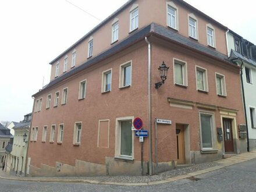
<svg viewBox="0 0 256 192"><path fill-rule="evenodd" d="M207 69L195 66L197 90L208 91Z"/></svg>

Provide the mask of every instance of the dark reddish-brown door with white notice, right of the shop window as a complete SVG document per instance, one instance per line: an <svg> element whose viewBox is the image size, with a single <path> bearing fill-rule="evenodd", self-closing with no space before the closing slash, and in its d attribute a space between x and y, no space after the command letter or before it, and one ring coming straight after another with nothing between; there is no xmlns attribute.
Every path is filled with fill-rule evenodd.
<svg viewBox="0 0 256 192"><path fill-rule="evenodd" d="M223 118L225 152L234 152L232 119Z"/></svg>

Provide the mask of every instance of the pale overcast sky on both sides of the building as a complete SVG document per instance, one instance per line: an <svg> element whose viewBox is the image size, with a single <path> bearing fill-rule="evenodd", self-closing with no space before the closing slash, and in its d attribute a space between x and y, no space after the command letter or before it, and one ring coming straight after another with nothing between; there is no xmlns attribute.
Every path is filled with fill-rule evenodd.
<svg viewBox="0 0 256 192"><path fill-rule="evenodd" d="M43 79L44 85L49 83L48 63L125 2L0 1L0 121L23 120L32 111L31 95L42 87ZM241 1L237 0L186 2L256 44L253 0L242 1L243 11Z"/></svg>

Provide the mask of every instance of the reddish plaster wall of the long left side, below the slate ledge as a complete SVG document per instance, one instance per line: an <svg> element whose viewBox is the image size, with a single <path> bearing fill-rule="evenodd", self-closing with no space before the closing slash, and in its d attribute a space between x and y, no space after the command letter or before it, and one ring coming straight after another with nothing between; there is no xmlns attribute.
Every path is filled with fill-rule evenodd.
<svg viewBox="0 0 256 192"><path fill-rule="evenodd" d="M127 61L132 61L131 86L119 89L120 65ZM111 68L111 91L102 94L102 72ZM104 165L105 157L114 157L116 118L140 116L144 120L144 126L148 127L147 78L144 78L147 77L146 69L147 44L143 41L38 95L35 100L42 97L42 109L40 112L33 113L31 127L38 126L38 135L37 141L31 142L29 147L31 165L37 168L40 168L41 163L53 167L56 162L74 165L77 160ZM79 82L84 79L87 79L86 98L79 100ZM59 106L53 108L55 92L60 91L62 93L62 89L65 87L68 87L67 104L61 105L59 102ZM52 94L52 102L51 107L45 109L48 94ZM60 94L59 101L61 99ZM109 119L109 148L97 147L98 121L102 119ZM73 145L74 122L83 123L80 146ZM59 123L64 123L62 144L56 144ZM49 143L51 125L56 125L55 142L53 144ZM43 126L47 126L47 140L45 143L41 141ZM147 139L144 145L148 145ZM147 161L147 158L148 150L145 150L145 161ZM39 159L40 161L38 161ZM134 138L134 159L140 160L138 138Z"/></svg>

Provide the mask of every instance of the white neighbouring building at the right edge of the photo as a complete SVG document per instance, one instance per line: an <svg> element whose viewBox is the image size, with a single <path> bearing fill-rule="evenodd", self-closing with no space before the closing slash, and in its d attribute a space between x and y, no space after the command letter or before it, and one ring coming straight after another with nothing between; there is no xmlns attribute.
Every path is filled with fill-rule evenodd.
<svg viewBox="0 0 256 192"><path fill-rule="evenodd" d="M229 58L242 67L241 86L244 90L244 108L247 127L249 148L256 148L256 46L244 40L233 31L227 33L227 47Z"/></svg>

